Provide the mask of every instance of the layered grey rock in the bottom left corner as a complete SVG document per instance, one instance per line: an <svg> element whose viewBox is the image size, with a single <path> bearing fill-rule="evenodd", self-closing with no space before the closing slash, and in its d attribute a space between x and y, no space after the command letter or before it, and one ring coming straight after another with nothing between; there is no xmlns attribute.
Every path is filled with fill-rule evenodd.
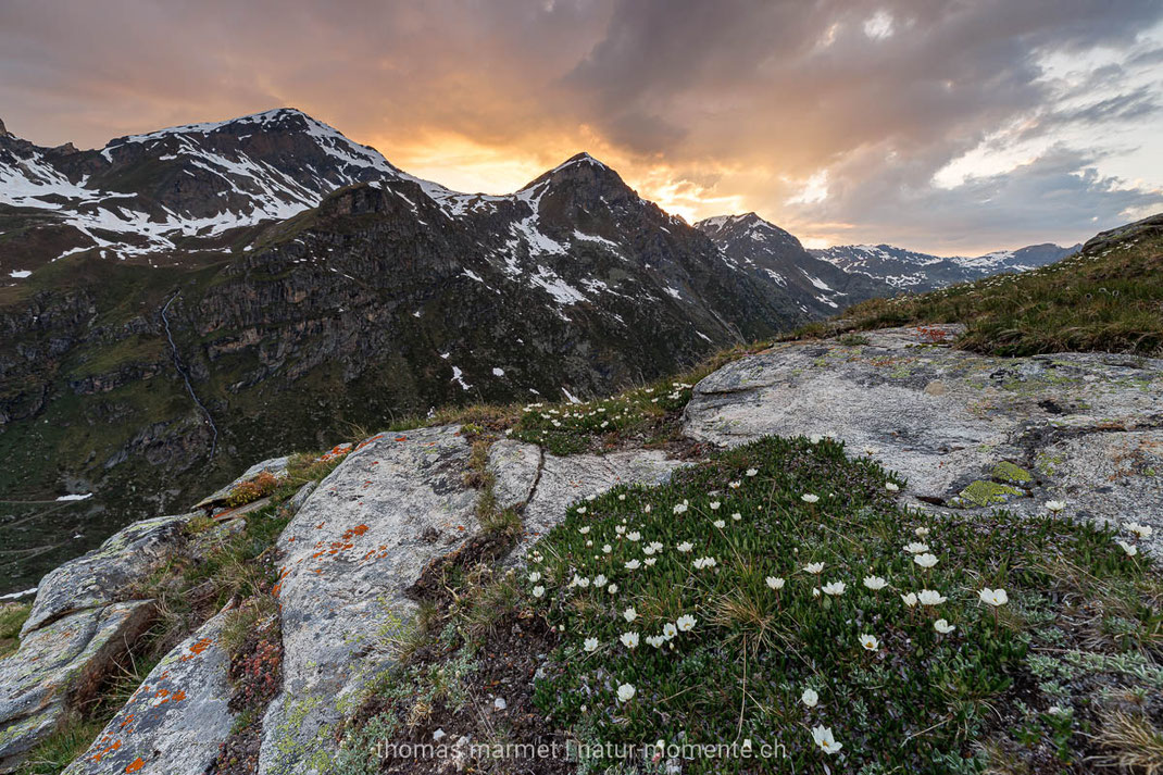
<svg viewBox="0 0 1163 775"><path fill-rule="evenodd" d="M71 613L21 638L0 659L0 773L10 772L87 699L109 667L149 626L149 600Z"/></svg>

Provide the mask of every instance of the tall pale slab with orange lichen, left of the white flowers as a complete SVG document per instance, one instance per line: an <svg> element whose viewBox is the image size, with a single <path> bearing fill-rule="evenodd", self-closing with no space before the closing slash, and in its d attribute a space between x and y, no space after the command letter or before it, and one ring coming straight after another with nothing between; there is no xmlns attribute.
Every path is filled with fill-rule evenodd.
<svg viewBox="0 0 1163 775"><path fill-rule="evenodd" d="M327 772L334 725L392 661L415 611L405 591L477 532L456 427L391 434L351 453L279 538L283 691L263 721L259 772ZM440 541L423 535L436 531Z"/></svg>

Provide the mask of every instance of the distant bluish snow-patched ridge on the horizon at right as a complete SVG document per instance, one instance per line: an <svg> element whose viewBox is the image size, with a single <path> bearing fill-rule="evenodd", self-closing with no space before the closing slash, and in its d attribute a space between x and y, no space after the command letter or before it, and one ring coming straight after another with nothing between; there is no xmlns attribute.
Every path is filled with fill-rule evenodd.
<svg viewBox="0 0 1163 775"><path fill-rule="evenodd" d="M1003 272L1022 272L1077 253L1082 246L1032 244L977 257L942 257L890 244L844 244L812 250L812 255L846 272L865 275L901 291L932 291Z"/></svg>

